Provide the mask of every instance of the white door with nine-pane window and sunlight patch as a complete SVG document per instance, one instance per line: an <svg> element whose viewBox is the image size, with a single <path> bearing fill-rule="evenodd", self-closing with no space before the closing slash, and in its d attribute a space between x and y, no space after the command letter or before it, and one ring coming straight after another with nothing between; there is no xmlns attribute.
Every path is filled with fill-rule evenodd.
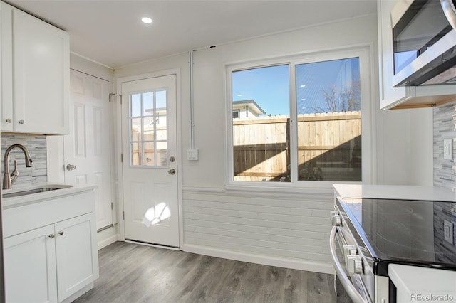
<svg viewBox="0 0 456 303"><path fill-rule="evenodd" d="M176 75L120 86L125 239L178 247Z"/></svg>

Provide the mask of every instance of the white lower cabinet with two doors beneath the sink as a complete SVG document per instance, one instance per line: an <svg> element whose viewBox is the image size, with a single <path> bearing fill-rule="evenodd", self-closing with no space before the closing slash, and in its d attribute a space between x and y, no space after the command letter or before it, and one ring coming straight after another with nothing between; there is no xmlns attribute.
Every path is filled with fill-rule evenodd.
<svg viewBox="0 0 456 303"><path fill-rule="evenodd" d="M93 288L94 205L88 191L4 209L6 302L72 302Z"/></svg>

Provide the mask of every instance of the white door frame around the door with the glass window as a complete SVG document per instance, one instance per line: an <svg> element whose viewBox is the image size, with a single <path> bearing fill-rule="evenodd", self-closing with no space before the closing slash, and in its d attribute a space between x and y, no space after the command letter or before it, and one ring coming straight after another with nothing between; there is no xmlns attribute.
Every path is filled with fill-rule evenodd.
<svg viewBox="0 0 456 303"><path fill-rule="evenodd" d="M183 212L182 212L182 119L181 119L181 91L180 91L180 68L174 68L170 70L161 70L152 73L145 73L140 75L130 75L125 77L119 77L116 81L116 91L119 94L122 83L129 81L142 80L147 78L157 78L167 75L176 76L176 149L177 149L177 208L179 214L179 248L182 248L184 245L184 224L183 224ZM121 95L121 94L120 94ZM125 221L123 220L123 211L125 209L124 199L123 199L123 168L122 162L120 161L120 155L122 154L122 105L120 104L120 96L115 98L115 162L117 168L117 194L119 201L118 208L118 223L119 223L119 239L125 241ZM125 100L122 100L125 102ZM126 156L125 156L126 159Z"/></svg>

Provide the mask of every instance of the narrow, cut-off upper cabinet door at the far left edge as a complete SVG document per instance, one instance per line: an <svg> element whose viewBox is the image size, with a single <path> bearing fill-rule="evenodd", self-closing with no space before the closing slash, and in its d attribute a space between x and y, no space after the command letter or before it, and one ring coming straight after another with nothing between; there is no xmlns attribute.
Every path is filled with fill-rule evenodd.
<svg viewBox="0 0 456 303"><path fill-rule="evenodd" d="M0 2L1 17L1 131L13 130L13 10Z"/></svg>

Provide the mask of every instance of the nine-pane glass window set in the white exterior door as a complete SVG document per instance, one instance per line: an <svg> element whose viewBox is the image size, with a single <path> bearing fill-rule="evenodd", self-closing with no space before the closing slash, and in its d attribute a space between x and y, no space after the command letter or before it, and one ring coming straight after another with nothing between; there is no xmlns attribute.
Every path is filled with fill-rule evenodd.
<svg viewBox="0 0 456 303"><path fill-rule="evenodd" d="M130 95L132 166L167 166L166 106L165 90Z"/></svg>

